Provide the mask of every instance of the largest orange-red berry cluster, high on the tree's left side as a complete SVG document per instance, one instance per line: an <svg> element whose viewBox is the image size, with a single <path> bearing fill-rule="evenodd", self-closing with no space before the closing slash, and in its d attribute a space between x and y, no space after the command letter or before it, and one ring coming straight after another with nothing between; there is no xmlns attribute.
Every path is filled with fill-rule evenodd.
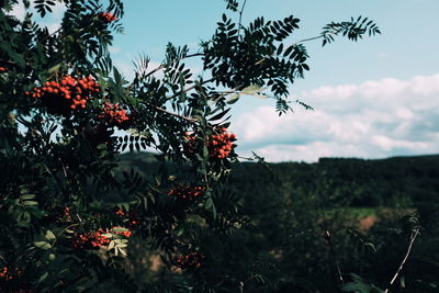
<svg viewBox="0 0 439 293"><path fill-rule="evenodd" d="M69 106L75 110L77 108L86 108L87 101L99 91L99 84L91 76L81 79L66 76L60 82L47 81L44 87L34 88L32 91L24 93L42 99L50 108Z"/></svg>

